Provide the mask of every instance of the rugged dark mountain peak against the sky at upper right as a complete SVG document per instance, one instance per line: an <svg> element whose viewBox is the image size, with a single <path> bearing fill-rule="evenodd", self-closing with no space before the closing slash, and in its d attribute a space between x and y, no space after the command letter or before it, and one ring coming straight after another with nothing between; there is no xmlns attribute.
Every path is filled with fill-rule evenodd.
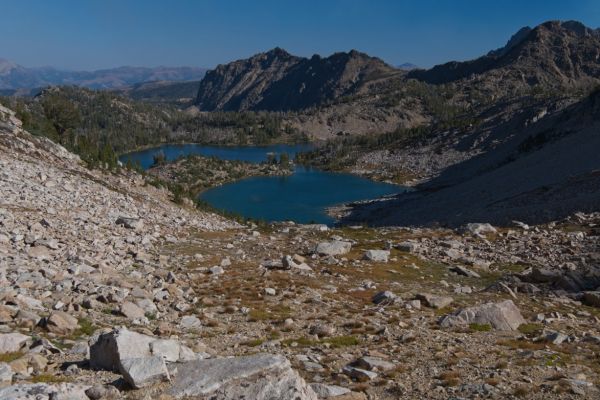
<svg viewBox="0 0 600 400"><path fill-rule="evenodd" d="M582 87L600 78L600 31L575 21L549 21L521 29L506 46L475 60L408 76L433 84L465 80L505 87Z"/></svg>

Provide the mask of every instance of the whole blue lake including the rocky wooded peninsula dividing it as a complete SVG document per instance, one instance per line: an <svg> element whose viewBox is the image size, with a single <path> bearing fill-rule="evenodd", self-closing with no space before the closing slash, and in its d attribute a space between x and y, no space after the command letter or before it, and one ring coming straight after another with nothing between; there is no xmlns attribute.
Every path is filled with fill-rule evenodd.
<svg viewBox="0 0 600 400"><path fill-rule="evenodd" d="M178 193L177 198L184 194L196 201L206 201L215 209L264 221L334 225L338 218L328 212L329 208L347 208L357 201L406 190L394 183L378 182L345 171L326 171L293 163L289 168L284 167L288 157L291 161L296 154L312 146L187 143L128 154L129 159L139 162L159 181L168 182L171 191ZM166 162L152 168L158 152L163 155L161 161ZM127 161L126 158L121 156L121 161Z"/></svg>

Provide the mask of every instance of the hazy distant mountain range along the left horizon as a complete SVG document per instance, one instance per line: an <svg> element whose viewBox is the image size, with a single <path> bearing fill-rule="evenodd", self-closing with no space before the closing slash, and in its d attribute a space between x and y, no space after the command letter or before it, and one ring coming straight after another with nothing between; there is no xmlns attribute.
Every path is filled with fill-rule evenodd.
<svg viewBox="0 0 600 400"><path fill-rule="evenodd" d="M197 67L118 67L97 71L27 68L0 59L0 89L19 90L50 85L116 89L149 81L199 81L207 70Z"/></svg>

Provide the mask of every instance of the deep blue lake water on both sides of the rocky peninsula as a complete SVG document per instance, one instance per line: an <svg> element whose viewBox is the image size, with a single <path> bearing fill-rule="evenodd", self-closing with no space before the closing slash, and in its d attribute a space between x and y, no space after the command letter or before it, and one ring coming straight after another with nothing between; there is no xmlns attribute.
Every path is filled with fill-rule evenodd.
<svg viewBox="0 0 600 400"><path fill-rule="evenodd" d="M138 160L143 168L152 165L153 155L162 150L167 159L181 155L201 154L229 160L265 161L267 153L308 150L311 145L274 145L264 147L217 147L165 145L121 156ZM325 212L327 207L358 200L373 199L406 191L406 188L374 182L356 175L297 167L290 176L259 176L209 189L200 199L213 207L235 212L244 217L266 221L295 221L331 225L334 219Z"/></svg>

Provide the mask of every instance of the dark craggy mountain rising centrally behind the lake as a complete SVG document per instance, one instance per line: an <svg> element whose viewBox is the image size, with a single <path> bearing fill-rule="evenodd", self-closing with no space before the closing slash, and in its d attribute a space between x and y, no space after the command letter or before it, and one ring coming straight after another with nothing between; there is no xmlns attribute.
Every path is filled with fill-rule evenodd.
<svg viewBox="0 0 600 400"><path fill-rule="evenodd" d="M196 103L203 111L299 110L354 93L365 82L398 73L357 51L296 57L275 48L206 73Z"/></svg>

